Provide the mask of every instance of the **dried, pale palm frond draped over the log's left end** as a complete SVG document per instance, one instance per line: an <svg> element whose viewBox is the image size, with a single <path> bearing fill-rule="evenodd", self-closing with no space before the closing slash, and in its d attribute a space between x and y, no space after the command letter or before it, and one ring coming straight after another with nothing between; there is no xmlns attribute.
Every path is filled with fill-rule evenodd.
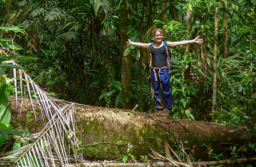
<svg viewBox="0 0 256 167"><path fill-rule="evenodd" d="M62 103L63 107L58 106L55 103L58 99L41 90L24 70L18 69L18 72L22 96L24 81L32 108L34 110L31 90L34 92L41 110L41 117L46 125L40 133L23 137L23 139L31 141L31 144L23 146L19 150L1 154L0 161L17 166L55 166L55 164L65 166L68 163L83 160L82 153L76 151L79 149L79 140L75 134L74 103ZM21 105L22 103L23 100ZM72 158L70 158L71 155Z"/></svg>

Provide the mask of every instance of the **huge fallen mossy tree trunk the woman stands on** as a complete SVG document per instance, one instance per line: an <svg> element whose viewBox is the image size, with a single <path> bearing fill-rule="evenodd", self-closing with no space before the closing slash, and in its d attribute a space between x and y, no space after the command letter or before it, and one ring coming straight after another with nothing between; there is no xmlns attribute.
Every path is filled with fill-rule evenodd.
<svg viewBox="0 0 256 167"><path fill-rule="evenodd" d="M29 99L12 104L11 124L15 128L26 128L26 114L31 111ZM17 107L16 107L17 106ZM40 132L43 123L37 110L37 120L29 124L32 133ZM174 119L167 116L139 113L130 110L103 108L96 106L75 105L77 134L84 147L86 160L116 160L129 153L136 159L151 153L151 148L164 151L164 140L177 152L180 146L196 160L215 160L209 156L209 151L223 158L231 156L230 147L236 145L237 150L244 145L242 136L244 128L237 125L215 124L202 121ZM234 130L235 129L235 130ZM179 146L180 145L180 146ZM219 157L221 158L221 157Z"/></svg>

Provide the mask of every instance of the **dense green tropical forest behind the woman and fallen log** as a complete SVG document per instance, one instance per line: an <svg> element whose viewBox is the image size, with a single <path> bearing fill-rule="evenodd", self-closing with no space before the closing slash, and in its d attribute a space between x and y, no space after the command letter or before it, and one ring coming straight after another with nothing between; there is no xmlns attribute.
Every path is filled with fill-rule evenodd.
<svg viewBox="0 0 256 167"><path fill-rule="evenodd" d="M152 42L153 30L162 28L165 40L204 40L172 48L172 116L254 127L255 0L0 4L1 56L33 57L17 64L58 99L124 109L138 104L137 111L154 113L150 50L125 42ZM9 49L8 43L21 48ZM2 72L12 77L8 68Z"/></svg>

